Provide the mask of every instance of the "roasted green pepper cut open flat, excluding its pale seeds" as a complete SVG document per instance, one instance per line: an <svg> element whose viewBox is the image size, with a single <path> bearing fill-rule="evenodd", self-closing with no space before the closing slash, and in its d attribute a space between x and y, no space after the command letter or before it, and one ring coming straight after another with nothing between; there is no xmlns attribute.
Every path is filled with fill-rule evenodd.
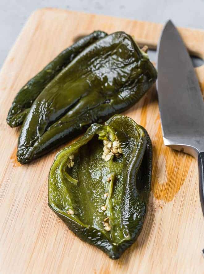
<svg viewBox="0 0 204 274"><path fill-rule="evenodd" d="M122 157L104 161L103 140L110 133L120 142ZM68 168L71 154L74 166ZM151 170L147 131L126 116L114 115L104 125L92 124L78 141L56 155L48 179L49 207L79 238L118 259L142 230ZM104 205L106 211L100 210ZM106 217L110 231L103 225Z"/></svg>

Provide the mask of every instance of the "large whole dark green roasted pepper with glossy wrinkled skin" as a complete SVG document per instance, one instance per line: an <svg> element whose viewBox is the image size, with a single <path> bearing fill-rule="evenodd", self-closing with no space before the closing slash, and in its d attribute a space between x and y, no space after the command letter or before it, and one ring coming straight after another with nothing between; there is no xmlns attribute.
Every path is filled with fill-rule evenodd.
<svg viewBox="0 0 204 274"><path fill-rule="evenodd" d="M18 142L18 161L28 163L59 144L125 111L152 86L153 64L124 32L83 50L38 95Z"/></svg>

